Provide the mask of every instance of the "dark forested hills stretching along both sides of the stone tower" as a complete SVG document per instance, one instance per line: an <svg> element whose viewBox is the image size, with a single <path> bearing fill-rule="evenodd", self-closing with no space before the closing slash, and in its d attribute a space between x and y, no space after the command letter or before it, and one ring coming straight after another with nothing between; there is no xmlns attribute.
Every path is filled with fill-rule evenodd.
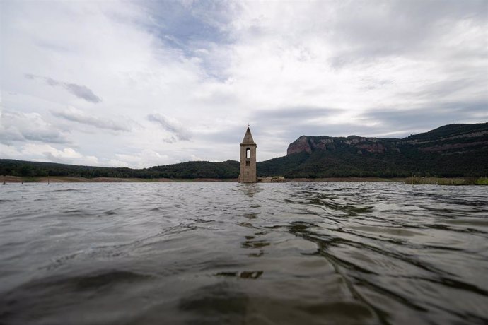
<svg viewBox="0 0 488 325"><path fill-rule="evenodd" d="M451 124L407 138L301 136L284 157L257 162L258 176L482 177L488 175L488 123ZM0 175L237 178L239 162L192 161L144 169L0 159Z"/></svg>

